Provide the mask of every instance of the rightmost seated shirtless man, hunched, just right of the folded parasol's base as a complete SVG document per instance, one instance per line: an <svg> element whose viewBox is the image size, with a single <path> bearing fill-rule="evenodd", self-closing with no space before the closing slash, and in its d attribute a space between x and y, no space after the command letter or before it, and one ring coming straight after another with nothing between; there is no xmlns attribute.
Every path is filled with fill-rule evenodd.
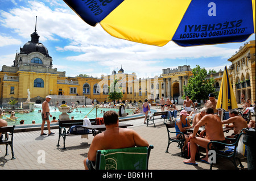
<svg viewBox="0 0 256 181"><path fill-rule="evenodd" d="M229 138L233 138L234 135L240 134L243 128L247 128L247 121L242 116L239 116L236 110L230 110L229 117L229 119L222 121L222 124L226 124L226 128L234 128L234 134L228 136ZM229 125L229 123L232 124Z"/></svg>

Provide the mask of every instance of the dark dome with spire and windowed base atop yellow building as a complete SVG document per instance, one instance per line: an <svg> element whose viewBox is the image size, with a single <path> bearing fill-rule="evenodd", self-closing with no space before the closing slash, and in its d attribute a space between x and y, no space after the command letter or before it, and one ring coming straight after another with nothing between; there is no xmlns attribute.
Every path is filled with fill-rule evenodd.
<svg viewBox="0 0 256 181"><path fill-rule="evenodd" d="M32 65L52 68L52 57L49 56L48 49L39 42L40 36L36 32L36 26L35 32L30 36L31 41L24 44L22 48L20 47L20 53L16 53L13 66Z"/></svg>

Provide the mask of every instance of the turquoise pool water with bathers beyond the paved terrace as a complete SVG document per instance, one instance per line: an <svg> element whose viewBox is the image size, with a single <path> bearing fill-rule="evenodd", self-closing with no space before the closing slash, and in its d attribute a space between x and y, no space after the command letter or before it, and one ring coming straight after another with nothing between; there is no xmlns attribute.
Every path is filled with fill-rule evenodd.
<svg viewBox="0 0 256 181"><path fill-rule="evenodd" d="M56 117L56 120L59 119L59 115L61 115L61 112L58 110L57 107L50 106L50 113L53 116ZM6 119L6 117L3 117L2 119L5 119L8 122L8 125L19 125L20 120L24 120L24 124L32 124L32 120L35 120L36 124L42 123L42 113L38 112L39 110L42 110L42 104L35 104L35 111L30 113L15 113L15 117L18 117L16 121L12 121L9 119ZM118 108L98 108L97 109L97 117L103 117L103 112L114 110L116 112L119 111ZM134 109L125 109L126 113L129 113L131 115L133 113ZM80 112L81 111L81 112ZM102 111L102 113L101 113ZM88 114L89 113L89 114ZM93 107L79 107L73 110L73 112L68 113L70 119L71 116L74 116L74 119L84 119L84 116L88 116L89 119L95 119L96 117L96 108L93 109ZM7 117L10 117L9 114L5 115ZM49 117L49 120L52 121L52 117Z"/></svg>

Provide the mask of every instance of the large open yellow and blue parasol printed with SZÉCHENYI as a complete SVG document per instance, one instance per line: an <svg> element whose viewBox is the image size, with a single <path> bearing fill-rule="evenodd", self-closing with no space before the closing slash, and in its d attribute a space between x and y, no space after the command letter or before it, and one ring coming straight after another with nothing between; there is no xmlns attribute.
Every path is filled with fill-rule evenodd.
<svg viewBox="0 0 256 181"><path fill-rule="evenodd" d="M255 33L255 0L64 0L90 26L163 46L242 42Z"/></svg>

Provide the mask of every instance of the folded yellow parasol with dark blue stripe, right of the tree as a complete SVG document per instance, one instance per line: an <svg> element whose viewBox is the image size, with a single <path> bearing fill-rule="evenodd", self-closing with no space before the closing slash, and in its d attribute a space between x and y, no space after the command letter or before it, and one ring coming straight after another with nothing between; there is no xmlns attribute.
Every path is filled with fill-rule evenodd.
<svg viewBox="0 0 256 181"><path fill-rule="evenodd" d="M238 108L226 66L222 76L216 108L222 108L224 110L232 110L234 108Z"/></svg>

